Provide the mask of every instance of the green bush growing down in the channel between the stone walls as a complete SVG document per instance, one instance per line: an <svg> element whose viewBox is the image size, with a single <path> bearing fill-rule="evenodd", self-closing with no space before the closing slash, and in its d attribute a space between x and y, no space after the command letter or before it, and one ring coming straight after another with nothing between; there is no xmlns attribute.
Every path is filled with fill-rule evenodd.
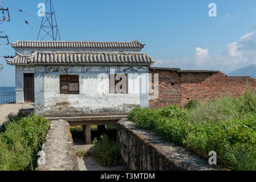
<svg viewBox="0 0 256 182"><path fill-rule="evenodd" d="M95 138L92 143L94 144L93 152L89 154L102 166L112 167L122 164L119 146L108 135L101 135L100 140Z"/></svg>

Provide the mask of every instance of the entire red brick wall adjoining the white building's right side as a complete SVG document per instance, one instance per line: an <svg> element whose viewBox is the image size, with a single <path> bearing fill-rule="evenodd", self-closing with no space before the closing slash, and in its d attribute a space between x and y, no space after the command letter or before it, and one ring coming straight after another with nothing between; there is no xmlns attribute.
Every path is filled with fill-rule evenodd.
<svg viewBox="0 0 256 182"><path fill-rule="evenodd" d="M149 100L149 107L171 104L186 105L192 99L208 101L223 95L240 96L247 90L247 82L256 88L256 79L251 77L228 77L224 73L179 73L150 70L159 73L159 97ZM172 85L172 83L174 85Z"/></svg>

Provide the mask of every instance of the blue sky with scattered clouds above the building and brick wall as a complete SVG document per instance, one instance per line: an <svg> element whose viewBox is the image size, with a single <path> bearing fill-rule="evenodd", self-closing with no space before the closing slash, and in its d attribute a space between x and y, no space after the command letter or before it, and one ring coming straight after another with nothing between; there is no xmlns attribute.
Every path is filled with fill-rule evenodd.
<svg viewBox="0 0 256 182"><path fill-rule="evenodd" d="M10 42L36 40L46 0L0 0L10 22L0 25ZM53 0L61 40L133 41L156 67L218 70L226 74L256 64L255 0ZM216 16L210 3L216 5ZM21 9L25 13L18 11ZM1 17L1 16L0 16ZM29 25L25 23L29 22ZM0 36L5 34L0 33ZM49 39L46 39L49 40ZM2 56L15 55L0 46L0 86L15 86L15 68Z"/></svg>

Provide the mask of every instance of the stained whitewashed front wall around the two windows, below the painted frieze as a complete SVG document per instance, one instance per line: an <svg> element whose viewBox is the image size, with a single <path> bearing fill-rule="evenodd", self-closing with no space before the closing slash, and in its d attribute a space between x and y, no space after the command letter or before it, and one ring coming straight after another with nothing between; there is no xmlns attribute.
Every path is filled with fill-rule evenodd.
<svg viewBox="0 0 256 182"><path fill-rule="evenodd" d="M59 75L69 74L79 75L79 94L60 94ZM109 73L35 73L37 114L127 113L136 106L148 106L147 73L128 73L128 94L109 93Z"/></svg>

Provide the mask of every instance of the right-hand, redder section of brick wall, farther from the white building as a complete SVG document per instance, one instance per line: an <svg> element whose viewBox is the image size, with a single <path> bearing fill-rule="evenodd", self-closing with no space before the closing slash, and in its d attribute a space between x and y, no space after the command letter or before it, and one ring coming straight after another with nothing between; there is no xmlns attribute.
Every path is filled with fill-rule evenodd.
<svg viewBox="0 0 256 182"><path fill-rule="evenodd" d="M256 88L251 77L228 77L224 73L181 73L181 104L192 99L208 101L222 95L238 97L247 90L247 81Z"/></svg>

